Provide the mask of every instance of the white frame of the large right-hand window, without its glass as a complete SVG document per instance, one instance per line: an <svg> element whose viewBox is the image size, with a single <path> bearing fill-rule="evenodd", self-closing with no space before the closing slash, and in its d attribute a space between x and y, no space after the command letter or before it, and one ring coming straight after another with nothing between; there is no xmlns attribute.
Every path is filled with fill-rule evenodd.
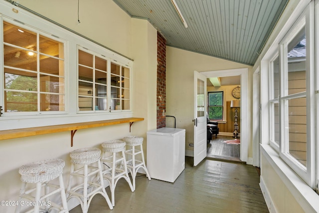
<svg viewBox="0 0 319 213"><path fill-rule="evenodd" d="M310 2L300 18L293 24L291 30L287 32L287 35L280 42L280 157L287 163L310 187L315 189L316 187L316 166L315 166L315 90L314 90L314 1ZM306 24L306 25L305 25ZM306 39L307 39L307 60L306 60L306 85L307 91L303 93L288 95L288 63L287 63L287 43L295 37L295 35L306 26ZM307 169L302 166L295 158L288 154L288 136L284 127L288 118L285 112L287 112L286 100L298 97L307 96Z"/></svg>

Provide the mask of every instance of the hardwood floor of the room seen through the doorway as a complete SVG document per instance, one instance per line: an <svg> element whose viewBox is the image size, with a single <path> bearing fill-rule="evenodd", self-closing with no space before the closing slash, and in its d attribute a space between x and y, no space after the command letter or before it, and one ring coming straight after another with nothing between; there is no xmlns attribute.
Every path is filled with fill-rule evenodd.
<svg viewBox="0 0 319 213"><path fill-rule="evenodd" d="M233 140L232 136L213 136L207 144L207 157L213 160L240 161L240 145L223 143L226 140Z"/></svg>

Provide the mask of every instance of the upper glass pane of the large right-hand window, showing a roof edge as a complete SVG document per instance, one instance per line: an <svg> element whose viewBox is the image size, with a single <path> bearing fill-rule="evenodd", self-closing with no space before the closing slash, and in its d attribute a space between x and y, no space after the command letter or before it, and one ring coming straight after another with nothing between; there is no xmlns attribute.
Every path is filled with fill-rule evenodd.
<svg viewBox="0 0 319 213"><path fill-rule="evenodd" d="M306 91L305 27L288 44L288 95Z"/></svg>

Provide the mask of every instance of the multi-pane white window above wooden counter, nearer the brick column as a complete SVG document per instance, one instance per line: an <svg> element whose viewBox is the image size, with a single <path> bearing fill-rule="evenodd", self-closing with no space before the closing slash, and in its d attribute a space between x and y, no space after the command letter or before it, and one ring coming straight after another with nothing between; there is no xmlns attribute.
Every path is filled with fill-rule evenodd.
<svg viewBox="0 0 319 213"><path fill-rule="evenodd" d="M131 110L131 68L78 47L78 112Z"/></svg>

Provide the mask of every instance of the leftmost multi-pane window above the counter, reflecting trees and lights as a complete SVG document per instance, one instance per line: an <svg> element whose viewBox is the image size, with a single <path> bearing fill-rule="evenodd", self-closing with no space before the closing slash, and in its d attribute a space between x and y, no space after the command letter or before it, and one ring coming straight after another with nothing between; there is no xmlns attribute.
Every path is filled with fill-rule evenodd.
<svg viewBox="0 0 319 213"><path fill-rule="evenodd" d="M65 111L64 42L3 21L4 112Z"/></svg>

